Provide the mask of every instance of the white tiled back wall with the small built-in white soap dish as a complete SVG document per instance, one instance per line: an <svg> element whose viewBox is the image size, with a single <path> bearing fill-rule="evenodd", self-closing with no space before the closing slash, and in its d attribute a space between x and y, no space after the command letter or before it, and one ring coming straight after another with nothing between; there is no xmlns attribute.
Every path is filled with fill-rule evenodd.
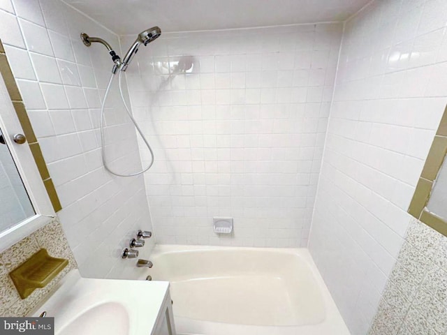
<svg viewBox="0 0 447 335"><path fill-rule="evenodd" d="M157 241L307 245L341 36L342 24L308 24L140 48L126 75L156 157L145 182ZM214 234L213 216L233 217L234 233Z"/></svg>

